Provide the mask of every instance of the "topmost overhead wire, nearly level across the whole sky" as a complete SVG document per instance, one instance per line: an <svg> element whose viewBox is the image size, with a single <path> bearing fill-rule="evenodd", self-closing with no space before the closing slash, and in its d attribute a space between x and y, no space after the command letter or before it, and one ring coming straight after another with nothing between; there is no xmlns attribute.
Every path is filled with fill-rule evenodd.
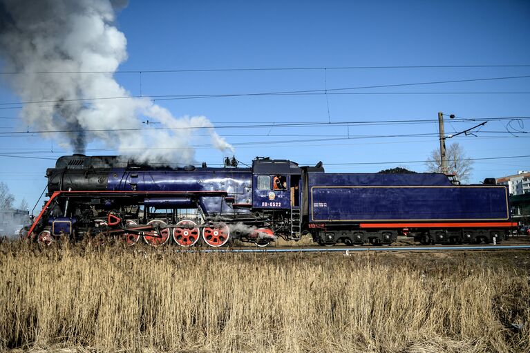
<svg viewBox="0 0 530 353"><path fill-rule="evenodd" d="M410 68L527 68L530 64L500 64L500 65L392 65L392 66L306 66L306 67L280 67L280 68L190 68L190 69L162 69L162 70L117 70L117 71L8 71L0 75L46 75L46 74L85 74L85 73L117 73L117 74L144 74L144 73L211 73L234 71L286 71L286 70L373 70L373 69L410 69Z"/></svg>

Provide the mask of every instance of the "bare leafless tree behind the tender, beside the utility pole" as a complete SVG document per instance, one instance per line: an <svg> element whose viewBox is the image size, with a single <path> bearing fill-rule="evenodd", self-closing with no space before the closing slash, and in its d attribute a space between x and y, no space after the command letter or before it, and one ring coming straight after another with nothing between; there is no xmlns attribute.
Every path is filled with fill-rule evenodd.
<svg viewBox="0 0 530 353"><path fill-rule="evenodd" d="M447 173L455 174L461 182L469 182L473 161L464 153L460 144L450 144L446 150ZM433 150L427 158L427 171L431 173L442 173L442 158L439 149Z"/></svg>

